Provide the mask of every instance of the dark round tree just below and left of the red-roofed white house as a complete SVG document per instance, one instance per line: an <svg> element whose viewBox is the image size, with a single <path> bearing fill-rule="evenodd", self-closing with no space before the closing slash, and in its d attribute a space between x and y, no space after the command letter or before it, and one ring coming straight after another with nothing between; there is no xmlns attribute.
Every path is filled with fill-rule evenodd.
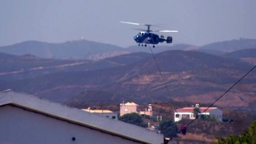
<svg viewBox="0 0 256 144"><path fill-rule="evenodd" d="M171 120L160 122L159 130L162 131L165 137L175 137L178 133L177 125Z"/></svg>

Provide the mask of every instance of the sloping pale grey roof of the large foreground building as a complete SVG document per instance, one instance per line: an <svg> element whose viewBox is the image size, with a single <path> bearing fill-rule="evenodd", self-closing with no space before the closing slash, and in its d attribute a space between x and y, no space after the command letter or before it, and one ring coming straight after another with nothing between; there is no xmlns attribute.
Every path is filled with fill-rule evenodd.
<svg viewBox="0 0 256 144"><path fill-rule="evenodd" d="M49 100L35 97L29 94L17 93L13 91L0 92L0 106L13 104L30 111L35 111L52 118L69 121L84 127L102 131L106 134L123 137L141 143L163 143L163 135L155 133L136 125L127 124L122 121L105 118L80 109L53 103Z"/></svg>

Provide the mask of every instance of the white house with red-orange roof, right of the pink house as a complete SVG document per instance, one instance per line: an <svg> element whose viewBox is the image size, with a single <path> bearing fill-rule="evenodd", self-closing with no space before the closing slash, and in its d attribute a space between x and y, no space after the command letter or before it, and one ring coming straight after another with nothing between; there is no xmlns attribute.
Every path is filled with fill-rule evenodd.
<svg viewBox="0 0 256 144"><path fill-rule="evenodd" d="M204 112L207 107L199 107L199 104L196 104L196 107L200 109L200 112ZM176 109L174 111L174 122L178 122L181 119L195 119L194 115L195 107L183 107L181 109ZM216 118L217 121L222 122L222 110L218 107L209 107L204 113L198 113L198 115L209 115Z"/></svg>

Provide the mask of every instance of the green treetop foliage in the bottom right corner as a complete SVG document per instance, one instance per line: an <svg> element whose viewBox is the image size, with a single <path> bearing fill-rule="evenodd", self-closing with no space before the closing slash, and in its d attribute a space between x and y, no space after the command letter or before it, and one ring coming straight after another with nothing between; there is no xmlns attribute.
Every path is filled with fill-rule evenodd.
<svg viewBox="0 0 256 144"><path fill-rule="evenodd" d="M231 135L227 138L219 137L215 144L225 143L256 143L256 121L254 121L245 133L240 136Z"/></svg>

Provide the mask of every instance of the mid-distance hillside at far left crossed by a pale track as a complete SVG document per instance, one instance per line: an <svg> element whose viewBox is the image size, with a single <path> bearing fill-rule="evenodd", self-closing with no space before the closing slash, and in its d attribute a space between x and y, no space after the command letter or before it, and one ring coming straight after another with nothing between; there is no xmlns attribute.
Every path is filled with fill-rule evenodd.
<svg viewBox="0 0 256 144"><path fill-rule="evenodd" d="M32 79L44 74L81 70L82 67L79 69L75 67L91 63L87 59L43 59L34 55L16 56L0 53L0 79L7 81Z"/></svg>

